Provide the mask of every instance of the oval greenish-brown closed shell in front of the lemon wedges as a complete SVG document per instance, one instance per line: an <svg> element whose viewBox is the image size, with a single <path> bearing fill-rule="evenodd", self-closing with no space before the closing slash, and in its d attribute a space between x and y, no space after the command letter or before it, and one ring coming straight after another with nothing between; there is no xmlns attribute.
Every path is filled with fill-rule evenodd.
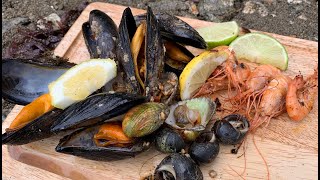
<svg viewBox="0 0 320 180"><path fill-rule="evenodd" d="M122 121L128 137L143 137L156 131L168 117L169 109L163 103L148 102L130 109Z"/></svg>

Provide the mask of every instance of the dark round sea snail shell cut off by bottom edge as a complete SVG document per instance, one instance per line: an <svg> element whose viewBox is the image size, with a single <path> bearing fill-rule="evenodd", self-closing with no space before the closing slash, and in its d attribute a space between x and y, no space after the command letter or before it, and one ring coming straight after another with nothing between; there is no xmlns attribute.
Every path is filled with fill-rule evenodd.
<svg viewBox="0 0 320 180"><path fill-rule="evenodd" d="M202 180L199 166L186 155L173 153L165 157L154 172L155 180Z"/></svg>

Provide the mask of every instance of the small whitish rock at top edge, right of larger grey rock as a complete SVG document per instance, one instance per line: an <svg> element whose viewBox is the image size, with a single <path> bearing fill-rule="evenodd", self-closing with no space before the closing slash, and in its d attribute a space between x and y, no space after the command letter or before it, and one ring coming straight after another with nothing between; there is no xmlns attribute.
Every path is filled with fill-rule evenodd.
<svg viewBox="0 0 320 180"><path fill-rule="evenodd" d="M258 1L247 1L244 5L242 13L244 14L253 14L256 11L262 16L265 17L269 14L267 7Z"/></svg>

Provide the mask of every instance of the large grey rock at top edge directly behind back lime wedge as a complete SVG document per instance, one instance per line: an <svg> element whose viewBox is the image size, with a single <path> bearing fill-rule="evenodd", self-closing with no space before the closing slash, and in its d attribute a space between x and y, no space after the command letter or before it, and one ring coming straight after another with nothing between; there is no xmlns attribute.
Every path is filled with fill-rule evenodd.
<svg viewBox="0 0 320 180"><path fill-rule="evenodd" d="M241 0L201 0L198 4L199 15L210 21L229 21L241 9L241 2Z"/></svg>

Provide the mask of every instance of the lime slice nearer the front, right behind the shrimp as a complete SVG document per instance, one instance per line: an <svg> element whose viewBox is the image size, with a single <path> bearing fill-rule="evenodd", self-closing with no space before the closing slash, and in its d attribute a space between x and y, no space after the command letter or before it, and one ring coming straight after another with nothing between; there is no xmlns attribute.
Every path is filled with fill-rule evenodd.
<svg viewBox="0 0 320 180"><path fill-rule="evenodd" d="M249 33L234 40L230 47L239 60L269 64L281 70L288 68L288 54L284 46L271 36Z"/></svg>

